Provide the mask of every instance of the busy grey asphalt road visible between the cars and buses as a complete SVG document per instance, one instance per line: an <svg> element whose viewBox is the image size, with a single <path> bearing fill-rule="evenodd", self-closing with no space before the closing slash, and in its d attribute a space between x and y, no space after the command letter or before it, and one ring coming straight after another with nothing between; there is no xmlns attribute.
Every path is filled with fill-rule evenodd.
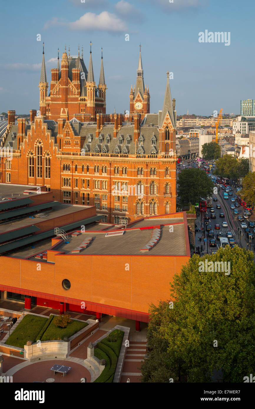
<svg viewBox="0 0 255 409"><path fill-rule="evenodd" d="M192 162L192 161L191 161ZM187 164L187 160L183 161L183 163L185 164L185 166L193 166L193 164L191 163L190 165ZM181 164L181 169L185 169L182 164ZM195 234L195 247L198 247L201 245L203 245L203 251L201 252L202 254L206 254L208 252L208 254L211 254L214 251L217 251L217 249L220 246L220 242L219 240L217 240L217 233L219 232L219 230L215 229L215 225L218 224L220 225L220 231L222 233L223 237L226 237L226 234L228 231L231 231L232 233L232 237L235 239L236 244L239 247L246 247L248 249L250 249L251 251L253 251L253 245L255 244L255 239L252 239L251 245L250 243L247 246L247 238L246 238L246 232L244 231L244 229L241 228L241 221L239 221L237 219L237 216L242 215L244 213L244 209L243 207L241 207L241 205L239 207L235 207L235 209L238 210L238 214L234 214L234 209L231 209L231 205L235 205L235 202L231 202L231 198L233 198L236 194L237 194L237 190L232 187L232 195L228 194L228 199L225 200L223 198L223 193L224 190L221 188L218 188L218 194L214 194L212 195L212 206L214 207L214 214L216 215L216 218L212 219L211 218L211 212L210 212L210 208L207 209L207 213L210 216L210 220L205 220L205 212L202 212L202 215L200 213L199 217L196 219L196 224L197 227L201 229L201 227L205 227L205 222L208 221L208 224L212 226L212 230L214 231L214 237L207 237L207 232L205 233L205 238L207 238L207 242L203 243L203 239L201 240L201 242L199 241L199 237L202 236L202 229L200 232L196 232ZM217 198L217 201L213 201L213 198ZM220 205L221 209L217 209L216 206ZM224 218L220 218L219 217L219 213L224 213ZM253 212L252 212L253 213ZM201 218L202 216L202 218ZM249 220L252 220L254 218L253 215L249 216L248 219L245 219L242 222L246 222L247 227L249 227ZM223 227L222 226L222 222L226 221L228 224L228 227ZM241 237L238 235L238 227L241 228ZM253 227L250 227L250 231L253 233ZM253 233L254 234L254 233ZM255 234L254 234L255 236ZM216 247L210 247L210 239L214 238L215 243L216 243Z"/></svg>

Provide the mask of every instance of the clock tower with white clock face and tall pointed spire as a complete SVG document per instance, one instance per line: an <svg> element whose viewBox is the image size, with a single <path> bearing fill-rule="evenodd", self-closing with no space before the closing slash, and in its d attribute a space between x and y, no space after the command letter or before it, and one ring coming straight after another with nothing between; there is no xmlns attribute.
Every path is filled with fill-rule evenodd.
<svg viewBox="0 0 255 409"><path fill-rule="evenodd" d="M139 112L141 114L141 119L145 114L150 112L150 94L149 87L144 87L143 79L143 69L142 69L142 57L141 57L141 45L140 45L140 56L138 62L138 70L136 76L136 83L134 89L131 85L130 91L130 115L131 117Z"/></svg>

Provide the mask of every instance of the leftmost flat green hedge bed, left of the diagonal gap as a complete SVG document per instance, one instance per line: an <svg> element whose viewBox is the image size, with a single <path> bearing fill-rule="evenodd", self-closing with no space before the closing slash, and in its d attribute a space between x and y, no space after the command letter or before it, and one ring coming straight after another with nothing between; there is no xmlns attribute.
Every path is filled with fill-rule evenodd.
<svg viewBox="0 0 255 409"><path fill-rule="evenodd" d="M5 344L24 348L27 341L36 342L38 339L37 334L40 333L47 321L47 318L39 317L38 315L25 315Z"/></svg>

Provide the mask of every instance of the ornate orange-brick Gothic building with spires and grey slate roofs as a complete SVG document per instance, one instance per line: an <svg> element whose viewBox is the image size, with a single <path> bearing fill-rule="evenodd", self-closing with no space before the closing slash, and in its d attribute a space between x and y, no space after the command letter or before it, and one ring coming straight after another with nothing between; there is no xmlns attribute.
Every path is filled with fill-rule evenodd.
<svg viewBox="0 0 255 409"><path fill-rule="evenodd" d="M145 113L149 108L144 106L144 89L141 112L135 107L137 112L128 118L116 113L106 115L102 61L97 94L91 52L83 85L79 80L81 69L85 70L81 58L69 57L64 52L61 70L59 63L52 70L56 81L52 80L50 96L46 97L43 54L39 83L41 115L36 116L36 110L31 110L30 124L19 118L15 125L15 111L8 111L7 131L0 139L0 147L11 150L12 158L2 158L0 181L46 186L55 200L95 206L105 222L118 224L141 215L173 213L176 210L176 110L169 72L163 107L158 114ZM142 67L141 54L137 84L143 81L143 70L139 67Z"/></svg>

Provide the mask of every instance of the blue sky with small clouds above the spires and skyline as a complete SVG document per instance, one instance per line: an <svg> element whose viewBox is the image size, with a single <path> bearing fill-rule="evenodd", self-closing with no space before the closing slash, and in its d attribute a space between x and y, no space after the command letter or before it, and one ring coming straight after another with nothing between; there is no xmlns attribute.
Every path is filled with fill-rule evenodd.
<svg viewBox="0 0 255 409"><path fill-rule="evenodd" d="M0 112L39 109L43 41L49 86L58 47L61 58L65 44L71 55L83 45L88 69L91 41L96 83L103 48L106 113L129 110L141 43L150 112L162 109L168 70L177 115L239 114L241 99L255 99L254 13L252 0L2 2ZM230 44L200 42L206 30L226 32Z"/></svg>

